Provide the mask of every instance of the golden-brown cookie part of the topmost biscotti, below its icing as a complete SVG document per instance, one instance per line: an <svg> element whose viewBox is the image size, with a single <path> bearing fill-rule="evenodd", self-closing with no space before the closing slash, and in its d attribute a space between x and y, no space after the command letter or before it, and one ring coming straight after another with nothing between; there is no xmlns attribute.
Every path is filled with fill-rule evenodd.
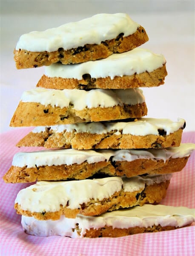
<svg viewBox="0 0 195 256"><path fill-rule="evenodd" d="M85 44L84 46L67 50L60 47L53 52L32 52L26 49L14 49L14 61L17 69L49 66L58 61L62 64L82 63L106 58L113 53L132 50L148 40L145 29L139 26L132 35L124 37L119 34L118 37L103 41L100 44Z"/></svg>

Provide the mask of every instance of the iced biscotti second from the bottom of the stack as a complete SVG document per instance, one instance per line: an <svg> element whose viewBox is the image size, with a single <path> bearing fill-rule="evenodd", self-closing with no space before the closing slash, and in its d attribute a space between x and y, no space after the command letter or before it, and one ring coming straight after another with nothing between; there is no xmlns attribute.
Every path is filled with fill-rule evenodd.
<svg viewBox="0 0 195 256"><path fill-rule="evenodd" d="M20 190L14 208L18 214L40 220L57 220L61 215L67 218L76 218L77 214L100 215L115 209L159 203L166 196L171 177L166 174L38 181Z"/></svg>

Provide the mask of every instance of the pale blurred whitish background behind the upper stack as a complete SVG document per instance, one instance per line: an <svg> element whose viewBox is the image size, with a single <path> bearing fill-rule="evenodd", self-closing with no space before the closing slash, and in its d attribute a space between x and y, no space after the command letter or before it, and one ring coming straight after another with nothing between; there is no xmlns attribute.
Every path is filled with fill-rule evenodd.
<svg viewBox="0 0 195 256"><path fill-rule="evenodd" d="M9 122L24 90L32 89L43 67L17 70L13 50L20 35L77 21L97 13L125 12L149 35L142 47L162 53L168 76L160 87L144 88L148 117L186 119L195 130L195 2L192 0L1 0L0 131Z"/></svg>

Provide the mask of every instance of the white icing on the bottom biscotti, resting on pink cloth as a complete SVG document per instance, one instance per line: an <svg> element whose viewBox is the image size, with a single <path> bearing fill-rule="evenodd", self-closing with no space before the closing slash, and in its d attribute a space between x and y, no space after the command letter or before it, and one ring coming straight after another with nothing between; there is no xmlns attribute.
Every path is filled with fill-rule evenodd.
<svg viewBox="0 0 195 256"><path fill-rule="evenodd" d="M187 207L172 207L166 205L144 204L131 209L106 212L100 216L89 217L77 215L75 219L64 215L57 221L39 221L34 217L22 216L22 227L26 233L34 236L69 236L83 237L86 230L102 227L131 228L131 227L184 227L195 221L195 209ZM76 225L78 224L78 226ZM80 235L77 233L80 229Z"/></svg>

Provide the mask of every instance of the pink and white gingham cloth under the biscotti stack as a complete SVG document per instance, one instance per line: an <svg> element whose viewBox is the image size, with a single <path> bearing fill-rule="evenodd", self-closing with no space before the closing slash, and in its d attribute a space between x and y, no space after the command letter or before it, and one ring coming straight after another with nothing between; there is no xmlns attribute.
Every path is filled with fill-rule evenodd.
<svg viewBox="0 0 195 256"><path fill-rule="evenodd" d="M120 238L71 239L35 237L25 234L14 200L20 189L29 184L6 184L2 176L18 151L40 148L17 148L14 145L32 128L14 129L0 135L0 255L1 256L195 256L195 225L159 233L144 233ZM184 132L182 142L195 143L195 132ZM195 152L186 167L172 177L166 198L161 204L195 208Z"/></svg>

